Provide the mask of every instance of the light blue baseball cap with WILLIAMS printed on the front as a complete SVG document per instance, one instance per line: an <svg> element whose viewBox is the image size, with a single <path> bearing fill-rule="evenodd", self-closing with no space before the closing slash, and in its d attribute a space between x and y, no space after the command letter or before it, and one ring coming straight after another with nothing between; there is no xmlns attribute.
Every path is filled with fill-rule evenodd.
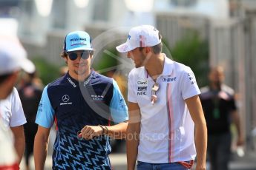
<svg viewBox="0 0 256 170"><path fill-rule="evenodd" d="M68 33L65 37L63 50L65 52L77 50L93 50L91 47L91 37L85 31L75 31Z"/></svg>

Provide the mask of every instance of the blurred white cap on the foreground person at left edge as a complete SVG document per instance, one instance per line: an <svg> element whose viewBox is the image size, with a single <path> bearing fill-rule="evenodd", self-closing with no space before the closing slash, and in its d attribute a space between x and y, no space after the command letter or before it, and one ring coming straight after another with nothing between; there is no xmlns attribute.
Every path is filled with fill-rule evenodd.
<svg viewBox="0 0 256 170"><path fill-rule="evenodd" d="M0 35L0 75L5 75L19 69L33 73L35 65L27 59L27 52L18 38Z"/></svg>

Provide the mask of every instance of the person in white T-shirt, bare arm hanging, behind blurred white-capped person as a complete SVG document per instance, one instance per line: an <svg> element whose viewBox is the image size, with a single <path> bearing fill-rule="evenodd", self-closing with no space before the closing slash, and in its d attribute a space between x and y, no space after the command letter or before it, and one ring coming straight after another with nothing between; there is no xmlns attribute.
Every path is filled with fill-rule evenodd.
<svg viewBox="0 0 256 170"><path fill-rule="evenodd" d="M13 91L4 100L0 101L0 116L3 119L5 127L10 127L13 132L14 146L18 154L18 163L22 161L24 154L24 123L27 123L22 109L22 102L19 93L15 87Z"/></svg>

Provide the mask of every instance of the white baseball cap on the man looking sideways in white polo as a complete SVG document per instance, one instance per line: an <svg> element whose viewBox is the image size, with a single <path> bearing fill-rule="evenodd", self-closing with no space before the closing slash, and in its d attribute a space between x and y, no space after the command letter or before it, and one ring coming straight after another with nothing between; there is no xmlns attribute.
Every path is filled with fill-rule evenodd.
<svg viewBox="0 0 256 170"><path fill-rule="evenodd" d="M129 31L127 41L116 47L119 52L128 52L137 47L153 47L160 44L159 31L151 25L133 27Z"/></svg>

